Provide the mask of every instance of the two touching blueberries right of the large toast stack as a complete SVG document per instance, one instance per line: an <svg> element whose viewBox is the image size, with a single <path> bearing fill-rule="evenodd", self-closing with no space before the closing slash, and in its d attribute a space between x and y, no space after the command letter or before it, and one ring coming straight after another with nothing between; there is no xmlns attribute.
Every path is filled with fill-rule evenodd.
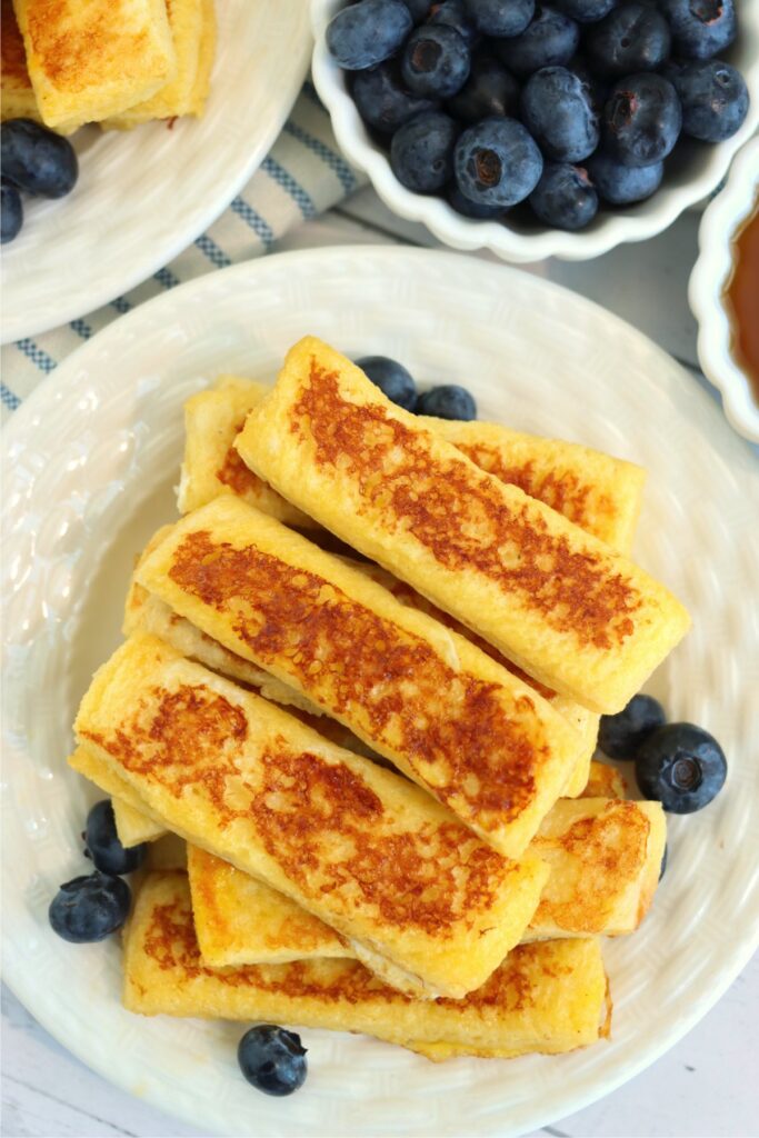
<svg viewBox="0 0 759 1138"><path fill-rule="evenodd" d="M717 740L692 723L667 723L651 695L634 695L618 715L601 717L599 748L635 761L641 793L670 814L694 814L719 794L727 760Z"/></svg>

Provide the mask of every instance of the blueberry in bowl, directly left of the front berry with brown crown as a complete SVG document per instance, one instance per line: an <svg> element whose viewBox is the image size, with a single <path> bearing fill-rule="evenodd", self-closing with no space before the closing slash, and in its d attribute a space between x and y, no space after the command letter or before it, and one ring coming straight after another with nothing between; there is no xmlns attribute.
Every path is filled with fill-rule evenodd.
<svg viewBox="0 0 759 1138"><path fill-rule="evenodd" d="M453 174L453 148L457 133L453 118L439 110L428 110L410 118L393 135L393 173L415 193L442 190Z"/></svg>

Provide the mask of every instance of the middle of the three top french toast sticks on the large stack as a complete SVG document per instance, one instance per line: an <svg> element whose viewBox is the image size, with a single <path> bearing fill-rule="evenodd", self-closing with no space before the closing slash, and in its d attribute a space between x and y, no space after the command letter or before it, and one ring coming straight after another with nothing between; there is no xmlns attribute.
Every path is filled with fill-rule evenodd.
<svg viewBox="0 0 759 1138"><path fill-rule="evenodd" d="M137 579L295 687L506 857L519 857L583 745L533 687L346 561L218 497Z"/></svg>

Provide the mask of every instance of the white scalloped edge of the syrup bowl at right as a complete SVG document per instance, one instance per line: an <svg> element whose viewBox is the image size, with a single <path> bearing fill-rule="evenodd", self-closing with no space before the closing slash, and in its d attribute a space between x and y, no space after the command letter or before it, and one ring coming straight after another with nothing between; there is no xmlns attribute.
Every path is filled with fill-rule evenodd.
<svg viewBox="0 0 759 1138"><path fill-rule="evenodd" d="M699 321L699 362L707 379L723 393L729 423L752 443L759 443L759 406L731 352L725 289L733 271L733 240L757 207L758 196L759 138L754 138L737 155L725 189L703 215L699 259L688 282L688 300Z"/></svg>

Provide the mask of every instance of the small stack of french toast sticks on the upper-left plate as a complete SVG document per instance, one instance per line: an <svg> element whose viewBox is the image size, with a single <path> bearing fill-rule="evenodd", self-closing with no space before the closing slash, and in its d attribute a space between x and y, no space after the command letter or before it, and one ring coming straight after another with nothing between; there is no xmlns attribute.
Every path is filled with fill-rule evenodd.
<svg viewBox="0 0 759 1138"><path fill-rule="evenodd" d="M60 134L203 115L214 0L1 0L2 118Z"/></svg>

